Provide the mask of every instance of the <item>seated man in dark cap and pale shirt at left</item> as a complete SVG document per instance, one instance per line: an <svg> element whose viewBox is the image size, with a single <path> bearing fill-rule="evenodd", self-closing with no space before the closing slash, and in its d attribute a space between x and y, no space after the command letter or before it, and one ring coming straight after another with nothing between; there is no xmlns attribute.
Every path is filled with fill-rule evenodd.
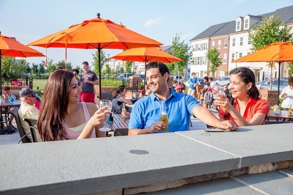
<svg viewBox="0 0 293 195"><path fill-rule="evenodd" d="M21 107L18 111L19 117L21 119L21 126L23 127L24 132L30 133L30 128L28 122L24 121L23 118L37 120L39 117L39 110L34 106L36 102L37 91L33 91L29 87L24 87L19 92L21 98ZM42 140L38 132L36 132L37 140ZM33 142L31 134L28 134L27 137Z"/></svg>

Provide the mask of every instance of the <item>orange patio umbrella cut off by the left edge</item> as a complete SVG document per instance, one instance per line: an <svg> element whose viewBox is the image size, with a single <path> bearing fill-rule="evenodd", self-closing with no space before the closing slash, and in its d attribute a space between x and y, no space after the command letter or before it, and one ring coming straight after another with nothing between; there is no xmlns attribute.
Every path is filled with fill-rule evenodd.
<svg viewBox="0 0 293 195"><path fill-rule="evenodd" d="M0 81L1 81L1 57L43 57L41 52L34 50L18 42L16 39L5 37L0 32ZM2 82L0 82L0 95L2 95Z"/></svg>

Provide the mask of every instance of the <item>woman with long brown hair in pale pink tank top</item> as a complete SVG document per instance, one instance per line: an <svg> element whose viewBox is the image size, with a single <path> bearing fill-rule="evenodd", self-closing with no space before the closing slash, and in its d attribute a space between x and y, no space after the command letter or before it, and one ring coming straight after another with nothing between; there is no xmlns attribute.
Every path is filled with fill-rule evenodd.
<svg viewBox="0 0 293 195"><path fill-rule="evenodd" d="M57 70L44 89L38 130L43 141L105 137L99 131L110 112L80 101L82 89L72 72Z"/></svg>

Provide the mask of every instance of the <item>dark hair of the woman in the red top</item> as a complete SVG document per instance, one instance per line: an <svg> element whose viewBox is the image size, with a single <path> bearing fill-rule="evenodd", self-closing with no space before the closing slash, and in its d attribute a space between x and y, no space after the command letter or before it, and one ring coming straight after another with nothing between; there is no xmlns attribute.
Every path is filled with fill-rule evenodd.
<svg viewBox="0 0 293 195"><path fill-rule="evenodd" d="M246 84L252 83L251 88L248 90L249 96L253 99L260 99L261 95L259 94L258 89L256 88L255 85L255 77L254 73L252 72L251 69L246 68L246 67L239 67L231 70L230 74L231 75L238 75L240 79L245 82ZM234 106L234 98L230 96L229 101L232 106ZM229 112L224 115L224 119L229 116Z"/></svg>

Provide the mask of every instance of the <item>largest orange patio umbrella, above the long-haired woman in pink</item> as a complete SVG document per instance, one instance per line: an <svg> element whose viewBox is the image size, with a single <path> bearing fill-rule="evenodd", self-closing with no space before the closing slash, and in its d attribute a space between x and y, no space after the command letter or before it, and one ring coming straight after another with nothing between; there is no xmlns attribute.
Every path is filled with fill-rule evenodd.
<svg viewBox="0 0 293 195"><path fill-rule="evenodd" d="M101 97L101 49L128 49L135 47L159 47L162 43L127 29L122 24L100 18L84 20L69 28L54 33L28 45L40 47L63 47L80 49L98 49L99 53L99 89ZM66 62L66 52L65 52Z"/></svg>

